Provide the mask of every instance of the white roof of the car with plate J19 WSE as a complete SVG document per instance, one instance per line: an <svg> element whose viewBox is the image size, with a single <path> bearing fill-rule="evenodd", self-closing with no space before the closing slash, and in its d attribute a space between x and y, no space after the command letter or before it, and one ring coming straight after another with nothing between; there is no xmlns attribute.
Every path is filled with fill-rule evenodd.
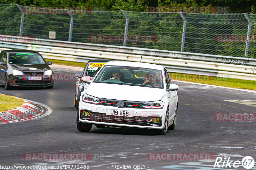
<svg viewBox="0 0 256 170"><path fill-rule="evenodd" d="M149 63L133 62L133 61L108 61L105 65L142 67L142 68L152 68L156 70L164 69L164 66L160 66L157 64L149 64Z"/></svg>

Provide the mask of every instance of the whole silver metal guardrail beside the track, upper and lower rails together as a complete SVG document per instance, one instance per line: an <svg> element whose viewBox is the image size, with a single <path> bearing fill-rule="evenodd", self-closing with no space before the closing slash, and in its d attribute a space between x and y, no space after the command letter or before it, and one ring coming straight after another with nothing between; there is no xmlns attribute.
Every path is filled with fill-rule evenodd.
<svg viewBox="0 0 256 170"><path fill-rule="evenodd" d="M35 50L51 59L78 62L87 62L92 58L140 61L142 55L142 62L166 65L171 72L222 77L225 74L230 78L256 80L256 59L6 35L0 35L0 40L2 48Z"/></svg>

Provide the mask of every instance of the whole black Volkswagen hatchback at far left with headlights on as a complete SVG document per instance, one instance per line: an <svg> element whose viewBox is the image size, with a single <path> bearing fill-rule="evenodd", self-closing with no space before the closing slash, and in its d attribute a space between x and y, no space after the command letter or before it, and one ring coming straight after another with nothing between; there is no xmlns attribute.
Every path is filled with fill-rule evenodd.
<svg viewBox="0 0 256 170"><path fill-rule="evenodd" d="M4 50L0 53L0 82L12 87L53 87L53 72L41 54L31 50Z"/></svg>

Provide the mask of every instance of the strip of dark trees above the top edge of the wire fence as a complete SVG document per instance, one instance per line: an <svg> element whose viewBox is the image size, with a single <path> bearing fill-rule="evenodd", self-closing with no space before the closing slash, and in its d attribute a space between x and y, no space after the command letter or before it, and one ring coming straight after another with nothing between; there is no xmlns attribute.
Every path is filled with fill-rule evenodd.
<svg viewBox="0 0 256 170"><path fill-rule="evenodd" d="M59 7L87 6L107 11L146 11L148 6L220 6L230 7L232 13L255 11L255 0L2 0L2 4Z"/></svg>

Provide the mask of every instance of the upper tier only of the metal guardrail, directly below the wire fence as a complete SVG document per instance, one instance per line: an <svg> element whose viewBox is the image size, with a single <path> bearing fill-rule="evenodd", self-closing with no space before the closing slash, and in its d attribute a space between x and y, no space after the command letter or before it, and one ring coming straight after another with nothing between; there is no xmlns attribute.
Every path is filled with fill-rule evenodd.
<svg viewBox="0 0 256 170"><path fill-rule="evenodd" d="M201 53L158 50L158 49L150 49L150 48L112 46L112 45L104 45L104 44L79 43L79 42L58 41L58 40L51 40L51 39L34 39L34 38L28 38L28 37L0 35L0 43L1 43L0 47L5 47L5 45L3 44L7 44L6 42L10 42L10 44L11 42L14 42L14 44L17 44L18 42L20 42L25 44L42 45L42 46L55 46L55 47L85 49L85 50L93 50L93 51L105 51L105 52L111 51L113 53L137 54L137 55L147 55L147 56L158 56L158 57L164 57L164 58L176 58L176 59L218 62L218 63L225 63L225 64L256 66L256 59L244 58L244 57L232 57L232 56L224 56L224 55L210 55L210 54L201 54Z"/></svg>

